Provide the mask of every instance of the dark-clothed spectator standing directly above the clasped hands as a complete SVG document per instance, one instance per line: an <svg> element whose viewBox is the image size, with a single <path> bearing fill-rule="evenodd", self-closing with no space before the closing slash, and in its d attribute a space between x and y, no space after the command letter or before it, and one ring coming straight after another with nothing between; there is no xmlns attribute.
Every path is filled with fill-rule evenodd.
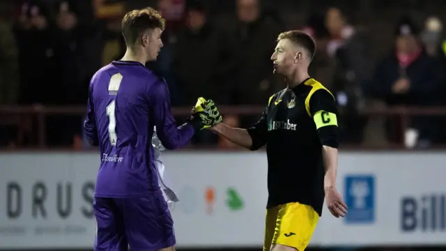
<svg viewBox="0 0 446 251"><path fill-rule="evenodd" d="M208 20L203 1L187 1L186 15L186 25L174 44L172 64L183 100L194 103L203 96L219 105L228 105L231 102L228 76L233 75L233 68L227 37ZM216 141L217 136L203 130L194 139L205 143Z"/></svg>

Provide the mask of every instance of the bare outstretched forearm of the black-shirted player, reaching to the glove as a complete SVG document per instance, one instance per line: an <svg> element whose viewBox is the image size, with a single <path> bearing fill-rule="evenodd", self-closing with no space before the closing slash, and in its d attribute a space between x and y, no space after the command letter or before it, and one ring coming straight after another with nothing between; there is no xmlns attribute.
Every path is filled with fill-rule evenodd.
<svg viewBox="0 0 446 251"><path fill-rule="evenodd" d="M250 149L252 146L252 138L246 129L241 128L231 128L226 126L224 123L219 123L217 126L210 128L217 135L228 139L233 144L245 147L245 149Z"/></svg>

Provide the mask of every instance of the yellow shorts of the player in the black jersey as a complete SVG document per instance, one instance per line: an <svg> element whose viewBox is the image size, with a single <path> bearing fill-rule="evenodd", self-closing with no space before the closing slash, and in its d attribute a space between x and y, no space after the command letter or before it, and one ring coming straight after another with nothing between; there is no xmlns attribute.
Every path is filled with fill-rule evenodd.
<svg viewBox="0 0 446 251"><path fill-rule="evenodd" d="M298 202L266 209L263 251L281 244L304 251L312 238L319 215L311 206Z"/></svg>

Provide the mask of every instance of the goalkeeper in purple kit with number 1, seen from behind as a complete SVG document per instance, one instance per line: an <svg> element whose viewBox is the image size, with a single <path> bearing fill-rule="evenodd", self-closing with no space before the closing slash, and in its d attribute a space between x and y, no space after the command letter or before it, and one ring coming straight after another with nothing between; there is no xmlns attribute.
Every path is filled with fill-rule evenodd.
<svg viewBox="0 0 446 251"><path fill-rule="evenodd" d="M173 222L159 185L154 128L166 149L185 146L192 135L222 121L211 100L199 99L183 126L171 115L164 79L144 67L162 47L164 19L153 8L132 10L122 21L127 52L101 68L89 87L84 132L100 146L93 208L95 250L175 250Z"/></svg>

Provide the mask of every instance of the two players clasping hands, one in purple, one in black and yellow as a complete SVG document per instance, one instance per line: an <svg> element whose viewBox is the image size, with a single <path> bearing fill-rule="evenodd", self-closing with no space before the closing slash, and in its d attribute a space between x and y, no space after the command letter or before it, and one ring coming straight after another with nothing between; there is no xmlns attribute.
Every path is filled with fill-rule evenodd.
<svg viewBox="0 0 446 251"><path fill-rule="evenodd" d="M221 123L215 102L205 98L198 99L187 123L177 126L167 83L144 67L163 46L164 18L153 8L132 10L122 27L127 51L92 77L84 123L89 142L100 146L101 154L117 157L102 159L96 178L95 251L123 251L129 245L175 250L173 220L160 190L155 151L149 149L155 128L169 150L185 146L203 129L252 151L268 145L265 251L305 250L324 199L332 215L344 217L346 205L335 188L337 104L308 75L316 50L309 35L279 34L271 60L288 86L269 98L259 121L242 129Z"/></svg>

